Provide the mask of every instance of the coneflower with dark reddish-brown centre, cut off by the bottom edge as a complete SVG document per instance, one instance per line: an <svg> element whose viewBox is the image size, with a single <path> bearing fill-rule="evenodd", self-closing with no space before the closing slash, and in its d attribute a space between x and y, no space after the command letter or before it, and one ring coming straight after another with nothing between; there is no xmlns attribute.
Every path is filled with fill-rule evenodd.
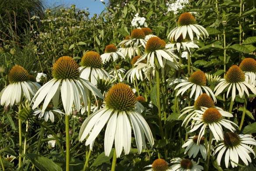
<svg viewBox="0 0 256 171"><path fill-rule="evenodd" d="M203 166L199 165L199 160L197 163L195 161L180 157L173 158L170 162L173 164L170 168L171 171L201 171ZM175 164L174 164L175 163Z"/></svg>

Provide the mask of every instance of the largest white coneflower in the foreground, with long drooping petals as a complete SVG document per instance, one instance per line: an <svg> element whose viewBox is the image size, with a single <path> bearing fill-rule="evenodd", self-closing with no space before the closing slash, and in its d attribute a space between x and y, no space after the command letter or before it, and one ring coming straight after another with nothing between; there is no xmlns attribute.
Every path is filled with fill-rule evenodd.
<svg viewBox="0 0 256 171"><path fill-rule="evenodd" d="M80 141L89 135L85 145L93 144L107 123L104 137L106 156L109 156L113 143L117 157L120 157L123 148L125 154L129 154L131 125L139 154L142 152L142 146L144 149L146 148L145 136L149 140L150 146L153 146L154 140L149 125L143 116L136 111L136 97L128 85L123 83L113 85L107 92L104 103L105 107L91 114L83 122L79 132Z"/></svg>

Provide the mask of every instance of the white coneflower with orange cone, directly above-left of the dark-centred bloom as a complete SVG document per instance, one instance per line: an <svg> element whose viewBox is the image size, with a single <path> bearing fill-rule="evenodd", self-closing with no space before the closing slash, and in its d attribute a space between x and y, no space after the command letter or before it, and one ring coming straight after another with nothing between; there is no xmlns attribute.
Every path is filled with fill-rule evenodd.
<svg viewBox="0 0 256 171"><path fill-rule="evenodd" d="M219 140L223 140L223 130L222 127L227 128L228 130L234 132L235 127L238 127L235 123L230 120L224 119L225 117L233 117L231 113L225 112L220 113L218 109L215 108L201 108L201 110L196 110L197 116L193 118L191 124L191 130L187 133L192 133L196 131L198 128L201 128L198 134L197 144L199 144L201 138L204 135L204 130L207 127L210 128L214 139L218 142Z"/></svg>

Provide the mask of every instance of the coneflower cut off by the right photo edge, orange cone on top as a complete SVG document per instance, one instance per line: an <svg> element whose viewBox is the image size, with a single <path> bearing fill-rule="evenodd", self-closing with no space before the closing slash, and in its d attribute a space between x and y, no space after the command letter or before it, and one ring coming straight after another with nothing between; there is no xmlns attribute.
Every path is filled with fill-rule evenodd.
<svg viewBox="0 0 256 171"><path fill-rule="evenodd" d="M246 82L255 87L256 82L256 61L253 58L245 58L239 65L239 68L245 73Z"/></svg>

